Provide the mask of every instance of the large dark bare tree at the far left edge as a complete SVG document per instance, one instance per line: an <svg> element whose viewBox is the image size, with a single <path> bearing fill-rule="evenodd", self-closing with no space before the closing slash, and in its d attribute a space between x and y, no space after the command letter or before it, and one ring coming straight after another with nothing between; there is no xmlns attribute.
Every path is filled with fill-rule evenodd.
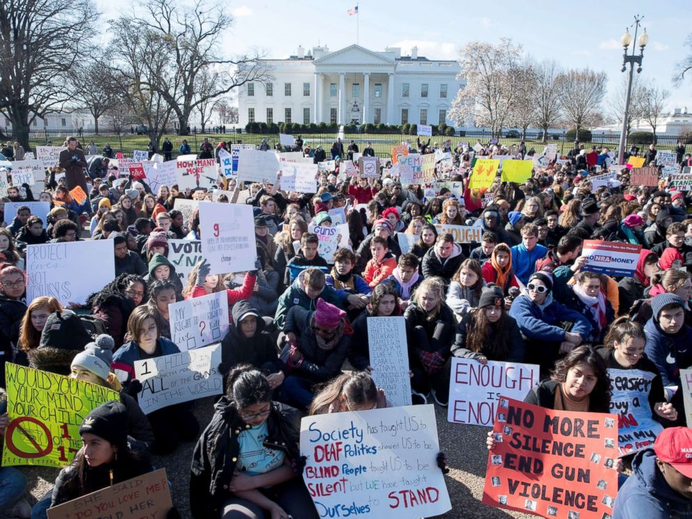
<svg viewBox="0 0 692 519"><path fill-rule="evenodd" d="M92 0L0 1L0 110L24 148L33 120L70 98L66 73L79 66L96 17Z"/></svg>

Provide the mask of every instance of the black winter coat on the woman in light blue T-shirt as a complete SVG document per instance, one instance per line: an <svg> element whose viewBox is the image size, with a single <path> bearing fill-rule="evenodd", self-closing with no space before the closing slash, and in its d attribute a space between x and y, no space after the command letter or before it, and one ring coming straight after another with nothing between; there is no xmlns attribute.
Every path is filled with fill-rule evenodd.
<svg viewBox="0 0 692 519"><path fill-rule="evenodd" d="M229 483L236 470L240 444L238 435L249 429L237 409L223 396L197 440L190 466L190 510L195 519L220 518L230 497ZM289 460L300 455L301 414L293 407L272 402L267 417L267 449L283 451Z"/></svg>

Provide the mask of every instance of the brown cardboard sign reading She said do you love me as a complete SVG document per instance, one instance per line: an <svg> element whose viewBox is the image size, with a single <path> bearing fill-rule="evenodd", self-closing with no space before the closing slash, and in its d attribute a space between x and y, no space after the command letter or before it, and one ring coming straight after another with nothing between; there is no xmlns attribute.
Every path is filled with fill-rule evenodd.
<svg viewBox="0 0 692 519"><path fill-rule="evenodd" d="M77 497L47 510L48 519L163 519L173 508L166 469Z"/></svg>

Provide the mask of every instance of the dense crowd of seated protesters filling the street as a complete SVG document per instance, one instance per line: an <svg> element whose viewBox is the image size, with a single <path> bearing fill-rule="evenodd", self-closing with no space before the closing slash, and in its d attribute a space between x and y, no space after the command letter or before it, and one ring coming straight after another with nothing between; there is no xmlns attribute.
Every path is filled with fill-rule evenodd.
<svg viewBox="0 0 692 519"><path fill-rule="evenodd" d="M83 448L33 511L21 469L2 467L0 516L45 518L51 506L151 471L151 455L197 442L193 517L317 517L300 476L301 416L390 406L371 376L368 319L403 316L414 405L449 404L453 357L536 364L541 383L527 402L568 412L617 412L609 370L651 373L648 412L663 433L652 448L619 458L622 479L629 474L627 502L617 498L613 517L644 509L654 518L692 517L692 460L673 452L692 452L680 389L680 370L692 365L692 198L665 178L633 186L623 165L617 181L594 187L589 177L608 167L608 149L576 142L524 183L498 174L492 186L470 189L478 158L533 150L419 139L410 151L449 152L437 178L463 186L426 197L425 186L389 174L389 159L379 178L347 176L344 161L358 146L336 140L335 168L318 174L316 193L283 190L280 172L247 186L220 176L218 188L232 195L218 202L255 211L255 269L219 276L203 259L181 279L169 240L199 240L200 216L195 209L186 218L175 202L211 200L211 191L172 185L153 193L146 179L121 178L110 152L88 163L76 139L64 144L45 188L10 186L0 200L0 386L13 362L110 387L120 399L84 420ZM205 144L200 156L227 147ZM375 155L363 144L363 154ZM315 163L327 160L322 146L312 150L300 139L296 148ZM260 149L272 152L267 142ZM163 153L171 151L172 144ZM691 165L684 146L676 151L679 165ZM656 167L654 145L645 160ZM77 186L87 194L82 204L70 194ZM45 220L29 206L4 211L7 202L33 200L49 202ZM337 225L339 213L348 246L328 262L308 228ZM481 241L457 243L446 225L480 227ZM633 277L585 269L587 239L642 246ZM116 277L93 287L84 306L66 308L49 296L27 301L27 246L77 240L112 240ZM227 294L230 331L221 341L224 392L211 422L193 414L206 400L145 415L135 361L179 352L168 307L214 292ZM9 421L0 414L0 433ZM446 471L442 453L438 465Z"/></svg>

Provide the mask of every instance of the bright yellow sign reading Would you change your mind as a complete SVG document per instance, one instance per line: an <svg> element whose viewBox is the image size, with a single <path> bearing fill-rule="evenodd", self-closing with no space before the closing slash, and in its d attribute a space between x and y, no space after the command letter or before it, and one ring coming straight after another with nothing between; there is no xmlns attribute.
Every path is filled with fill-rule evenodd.
<svg viewBox="0 0 692 519"><path fill-rule="evenodd" d="M12 363L5 368L10 423L3 467L68 465L82 446L82 420L108 400L120 402L105 386Z"/></svg>

